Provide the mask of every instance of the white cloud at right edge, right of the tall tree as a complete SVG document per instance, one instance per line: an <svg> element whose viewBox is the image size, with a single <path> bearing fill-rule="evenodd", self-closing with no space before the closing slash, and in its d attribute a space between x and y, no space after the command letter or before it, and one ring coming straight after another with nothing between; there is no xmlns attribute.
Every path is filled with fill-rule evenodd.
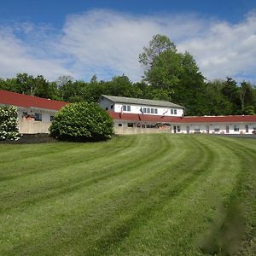
<svg viewBox="0 0 256 256"><path fill-rule="evenodd" d="M195 56L202 73L209 79L250 78L256 81L256 13L243 22L231 25L212 22L205 32L179 42Z"/></svg>

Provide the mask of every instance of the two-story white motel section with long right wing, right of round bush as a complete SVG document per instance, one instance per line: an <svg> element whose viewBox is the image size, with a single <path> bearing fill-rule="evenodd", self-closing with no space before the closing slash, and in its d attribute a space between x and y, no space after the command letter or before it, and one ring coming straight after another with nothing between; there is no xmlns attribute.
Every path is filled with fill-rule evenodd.
<svg viewBox="0 0 256 256"><path fill-rule="evenodd" d="M253 134L256 115L183 116L184 108L172 102L102 95L99 104L113 118L117 134L154 132Z"/></svg>

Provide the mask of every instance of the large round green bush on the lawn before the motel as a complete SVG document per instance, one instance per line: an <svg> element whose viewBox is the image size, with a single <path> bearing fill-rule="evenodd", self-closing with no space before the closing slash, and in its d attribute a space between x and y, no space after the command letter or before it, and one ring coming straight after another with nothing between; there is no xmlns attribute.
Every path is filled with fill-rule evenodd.
<svg viewBox="0 0 256 256"><path fill-rule="evenodd" d="M106 140L113 135L113 119L96 103L70 103L55 114L49 132L67 141Z"/></svg>

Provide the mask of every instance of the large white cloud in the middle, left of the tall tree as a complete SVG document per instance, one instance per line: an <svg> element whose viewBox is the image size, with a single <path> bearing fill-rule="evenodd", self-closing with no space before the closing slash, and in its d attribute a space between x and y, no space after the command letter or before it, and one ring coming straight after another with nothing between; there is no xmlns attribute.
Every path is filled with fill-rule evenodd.
<svg viewBox="0 0 256 256"><path fill-rule="evenodd" d="M125 73L132 80L139 80L143 69L138 55L154 34L183 38L201 27L193 16L186 17L185 23L183 18L124 15L106 10L70 15L63 29L61 49L83 67L74 68L80 76L90 78L96 73L109 79L109 73L110 76Z"/></svg>

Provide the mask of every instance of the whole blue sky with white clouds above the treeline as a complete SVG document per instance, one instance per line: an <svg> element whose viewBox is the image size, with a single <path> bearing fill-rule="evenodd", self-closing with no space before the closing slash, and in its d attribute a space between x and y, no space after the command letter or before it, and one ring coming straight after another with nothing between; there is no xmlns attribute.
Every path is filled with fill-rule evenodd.
<svg viewBox="0 0 256 256"><path fill-rule="evenodd" d="M155 34L188 50L207 79L256 84L255 0L3 1L0 77L139 81L138 55Z"/></svg>

